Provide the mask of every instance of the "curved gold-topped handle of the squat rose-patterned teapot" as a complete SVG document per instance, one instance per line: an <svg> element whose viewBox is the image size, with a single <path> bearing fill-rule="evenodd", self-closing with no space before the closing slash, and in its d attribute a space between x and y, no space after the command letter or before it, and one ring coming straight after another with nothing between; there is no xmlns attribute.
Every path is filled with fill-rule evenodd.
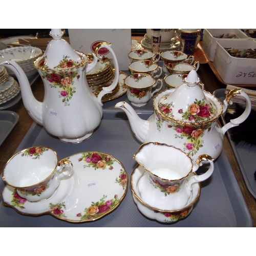
<svg viewBox="0 0 256 256"><path fill-rule="evenodd" d="M245 98L246 101L246 108L245 111L241 116L235 119L231 119L228 123L226 123L222 128L216 126L216 130L223 135L226 131L232 127L238 126L240 123L244 122L251 112L251 100L249 96L242 90L242 89L232 89L226 94L226 98L223 101L223 113L226 112L228 104L233 104L231 98L234 96L239 95Z"/></svg>

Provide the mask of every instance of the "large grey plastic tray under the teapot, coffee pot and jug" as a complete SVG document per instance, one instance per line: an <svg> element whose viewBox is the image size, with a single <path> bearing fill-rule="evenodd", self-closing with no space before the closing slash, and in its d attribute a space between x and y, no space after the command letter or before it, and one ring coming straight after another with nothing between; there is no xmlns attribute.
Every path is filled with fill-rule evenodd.
<svg viewBox="0 0 256 256"><path fill-rule="evenodd" d="M139 113L147 119L152 113ZM118 159L130 175L136 166L132 156L140 146L123 112L103 111L103 119L92 137L79 144L66 144L50 136L40 125L32 124L17 151L32 145L46 145L56 150L59 158L78 152L99 151ZM204 168L204 167L200 167ZM200 169L199 169L200 170ZM1 179L0 189L5 186ZM252 220L228 159L222 152L215 162L212 176L202 183L201 195L191 214L173 224L147 219L138 210L129 188L124 200L111 214L94 222L69 223L49 215L31 217L0 205L1 227L251 227Z"/></svg>

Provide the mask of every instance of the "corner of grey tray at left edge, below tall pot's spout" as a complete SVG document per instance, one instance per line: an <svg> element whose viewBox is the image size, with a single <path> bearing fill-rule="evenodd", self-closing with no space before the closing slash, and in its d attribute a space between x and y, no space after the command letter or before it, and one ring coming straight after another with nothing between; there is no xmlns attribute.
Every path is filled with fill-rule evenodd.
<svg viewBox="0 0 256 256"><path fill-rule="evenodd" d="M0 146L8 137L17 122L17 113L6 110L0 111Z"/></svg>

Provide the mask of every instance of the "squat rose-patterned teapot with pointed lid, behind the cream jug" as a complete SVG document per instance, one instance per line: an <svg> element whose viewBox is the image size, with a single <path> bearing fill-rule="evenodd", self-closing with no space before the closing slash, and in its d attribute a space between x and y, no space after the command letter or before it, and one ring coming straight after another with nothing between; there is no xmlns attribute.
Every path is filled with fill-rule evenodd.
<svg viewBox="0 0 256 256"><path fill-rule="evenodd" d="M155 112L148 120L141 119L125 101L118 102L115 107L126 113L132 131L142 143L174 145L187 153L194 163L202 154L216 159L221 154L225 132L249 116L250 98L243 90L233 89L222 105L218 98L197 85L200 80L195 70L189 72L185 81L182 86L166 89L155 96ZM221 128L217 120L236 95L245 98L246 109L240 117L230 120Z"/></svg>

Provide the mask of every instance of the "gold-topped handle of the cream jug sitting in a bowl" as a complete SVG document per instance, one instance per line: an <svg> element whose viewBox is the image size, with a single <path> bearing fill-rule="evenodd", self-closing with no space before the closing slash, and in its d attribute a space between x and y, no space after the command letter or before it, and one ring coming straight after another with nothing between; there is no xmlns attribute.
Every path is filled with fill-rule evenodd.
<svg viewBox="0 0 256 256"><path fill-rule="evenodd" d="M196 160L196 164L193 167L193 172L196 172L196 170L199 168L199 166L202 166L202 162L209 162L210 163L210 167L207 170L206 173L202 174L202 175L195 175L193 177L191 177L188 182L187 182L187 187L189 190L192 190L191 185L195 182L202 182L204 180L207 180L212 173L214 172L214 158L208 155L200 155L198 157L198 159Z"/></svg>

